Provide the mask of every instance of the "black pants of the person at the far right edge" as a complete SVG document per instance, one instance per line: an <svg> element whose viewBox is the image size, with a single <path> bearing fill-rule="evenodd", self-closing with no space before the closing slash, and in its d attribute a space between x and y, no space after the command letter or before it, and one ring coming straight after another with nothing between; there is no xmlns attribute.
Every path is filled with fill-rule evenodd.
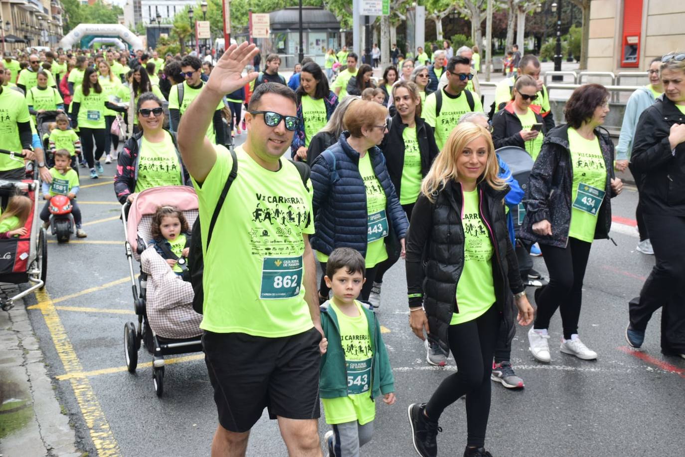
<svg viewBox="0 0 685 457"><path fill-rule="evenodd" d="M630 301L630 325L645 330L651 314L661 313L661 347L685 354L685 217L645 214L656 265Z"/></svg>

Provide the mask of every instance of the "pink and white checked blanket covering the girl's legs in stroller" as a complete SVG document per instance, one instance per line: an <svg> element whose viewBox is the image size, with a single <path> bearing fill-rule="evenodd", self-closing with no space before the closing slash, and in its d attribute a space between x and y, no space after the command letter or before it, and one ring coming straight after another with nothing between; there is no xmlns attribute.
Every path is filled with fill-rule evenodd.
<svg viewBox="0 0 685 457"><path fill-rule="evenodd" d="M199 336L202 315L192 309L192 285L176 275L153 246L140 256L147 279L147 319L164 338Z"/></svg>

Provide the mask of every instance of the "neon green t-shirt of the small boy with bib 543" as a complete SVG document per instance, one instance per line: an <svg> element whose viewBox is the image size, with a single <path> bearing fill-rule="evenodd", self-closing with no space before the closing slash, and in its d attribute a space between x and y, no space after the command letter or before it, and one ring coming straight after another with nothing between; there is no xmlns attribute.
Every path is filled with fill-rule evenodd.
<svg viewBox="0 0 685 457"><path fill-rule="evenodd" d="M345 369L347 370L347 397L322 398L323 413L326 423L345 423L358 421L360 425L373 421L376 408L371 399L371 359L373 349L369 335L369 321L358 301L354 301L359 315L349 317L340 308L329 301L338 317L340 343L345 352ZM360 393L350 393L360 392Z"/></svg>

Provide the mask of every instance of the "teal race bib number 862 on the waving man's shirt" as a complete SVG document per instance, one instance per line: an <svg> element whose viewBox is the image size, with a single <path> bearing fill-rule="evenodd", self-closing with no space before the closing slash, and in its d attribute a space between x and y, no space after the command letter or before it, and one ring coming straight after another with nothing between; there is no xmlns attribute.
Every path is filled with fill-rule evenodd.
<svg viewBox="0 0 685 457"><path fill-rule="evenodd" d="M260 299L297 297L302 284L302 256L265 257L262 263Z"/></svg>

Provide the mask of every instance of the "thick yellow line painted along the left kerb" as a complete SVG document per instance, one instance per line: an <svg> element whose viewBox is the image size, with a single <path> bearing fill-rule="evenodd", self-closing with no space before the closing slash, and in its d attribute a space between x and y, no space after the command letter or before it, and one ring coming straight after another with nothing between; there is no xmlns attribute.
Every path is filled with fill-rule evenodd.
<svg viewBox="0 0 685 457"><path fill-rule="evenodd" d="M64 325L62 325L57 309L55 309L47 291L45 289L36 291L36 299L38 299L40 312L55 344L55 350L62 360L62 365L64 365L64 371L66 374L82 373L81 361L76 355L71 341L69 341L69 336L64 330ZM95 392L92 390L88 378L76 377L69 381L90 432L90 439L97 449L97 455L101 457L121 456L119 444L114 439L110 424L97 401L97 397L95 397Z"/></svg>

